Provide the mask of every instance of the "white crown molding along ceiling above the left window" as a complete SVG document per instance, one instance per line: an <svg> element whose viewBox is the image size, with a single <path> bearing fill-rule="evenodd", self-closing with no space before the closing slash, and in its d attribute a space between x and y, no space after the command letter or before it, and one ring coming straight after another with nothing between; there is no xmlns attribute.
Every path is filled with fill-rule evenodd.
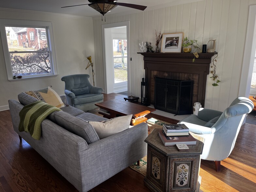
<svg viewBox="0 0 256 192"><path fill-rule="evenodd" d="M68 14L42 12L42 11L31 11L31 10L23 10L23 9L0 8L0 11L16 12L16 13L33 13L33 14L41 14L41 15L54 15L54 16L68 17L68 18L92 19L92 17L86 17L86 16L68 15Z"/></svg>

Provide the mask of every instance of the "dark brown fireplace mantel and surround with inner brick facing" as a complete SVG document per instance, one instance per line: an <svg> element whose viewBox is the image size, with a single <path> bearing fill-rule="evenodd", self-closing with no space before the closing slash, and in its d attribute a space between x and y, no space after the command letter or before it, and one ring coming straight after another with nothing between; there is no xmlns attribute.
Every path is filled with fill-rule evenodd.
<svg viewBox="0 0 256 192"><path fill-rule="evenodd" d="M193 53L138 53L144 56L145 80L148 82L145 97L147 104L154 104L155 77L193 80L192 103L200 102L204 107L207 75L214 53L200 53L193 63Z"/></svg>

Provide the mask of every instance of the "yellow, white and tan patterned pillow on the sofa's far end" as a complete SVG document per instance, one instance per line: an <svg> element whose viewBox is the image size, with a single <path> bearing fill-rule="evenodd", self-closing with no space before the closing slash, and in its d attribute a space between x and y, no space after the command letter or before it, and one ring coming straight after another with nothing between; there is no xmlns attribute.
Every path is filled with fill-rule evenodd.
<svg viewBox="0 0 256 192"><path fill-rule="evenodd" d="M51 88L43 88L35 91L27 91L26 94L35 97L38 101L53 105L58 108L65 107L60 96Z"/></svg>

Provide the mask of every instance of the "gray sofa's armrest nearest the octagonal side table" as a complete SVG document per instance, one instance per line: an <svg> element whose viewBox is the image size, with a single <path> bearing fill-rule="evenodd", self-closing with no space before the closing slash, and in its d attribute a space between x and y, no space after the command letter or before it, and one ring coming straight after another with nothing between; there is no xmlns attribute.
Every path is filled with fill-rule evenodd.
<svg viewBox="0 0 256 192"><path fill-rule="evenodd" d="M147 143L144 140L147 136L148 125L140 123L89 144L87 150L79 153L83 191L90 190L146 156Z"/></svg>

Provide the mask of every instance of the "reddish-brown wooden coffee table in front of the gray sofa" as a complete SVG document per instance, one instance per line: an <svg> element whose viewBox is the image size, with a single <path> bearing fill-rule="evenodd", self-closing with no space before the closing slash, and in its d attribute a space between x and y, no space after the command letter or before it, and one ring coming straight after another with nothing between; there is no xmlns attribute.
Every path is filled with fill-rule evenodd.
<svg viewBox="0 0 256 192"><path fill-rule="evenodd" d="M154 108L131 102L125 102L123 100L108 100L95 105L100 107L99 114L108 119L133 114L130 124L132 126L145 122L148 120L145 115L156 110Z"/></svg>

